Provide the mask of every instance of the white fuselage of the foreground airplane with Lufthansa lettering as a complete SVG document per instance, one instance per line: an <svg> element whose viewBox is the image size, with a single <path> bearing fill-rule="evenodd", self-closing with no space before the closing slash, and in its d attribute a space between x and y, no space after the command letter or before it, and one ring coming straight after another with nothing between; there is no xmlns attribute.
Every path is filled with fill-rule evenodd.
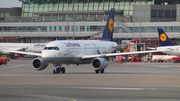
<svg viewBox="0 0 180 101"><path fill-rule="evenodd" d="M46 45L49 49L42 51L43 60L60 64L84 64L92 59L82 60L83 55L107 54L115 50L117 43L101 40L53 41ZM52 47L58 47L54 50Z"/></svg>

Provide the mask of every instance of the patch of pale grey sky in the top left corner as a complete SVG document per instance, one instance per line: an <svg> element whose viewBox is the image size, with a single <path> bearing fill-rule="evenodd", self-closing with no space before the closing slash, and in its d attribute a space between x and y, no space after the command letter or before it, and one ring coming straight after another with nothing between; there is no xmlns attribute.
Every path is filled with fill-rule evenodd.
<svg viewBox="0 0 180 101"><path fill-rule="evenodd" d="M0 0L0 8L11 8L11 7L21 7L22 2L19 0Z"/></svg>

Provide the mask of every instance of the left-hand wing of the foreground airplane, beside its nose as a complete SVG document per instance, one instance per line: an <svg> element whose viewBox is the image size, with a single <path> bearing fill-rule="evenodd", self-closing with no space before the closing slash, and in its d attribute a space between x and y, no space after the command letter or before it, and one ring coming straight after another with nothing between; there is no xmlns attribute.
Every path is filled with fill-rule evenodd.
<svg viewBox="0 0 180 101"><path fill-rule="evenodd" d="M17 53L17 54L26 54L26 55L41 56L41 53L35 53L35 52L15 51L15 50L2 50L2 51L3 51L3 52L9 52L9 53Z"/></svg>

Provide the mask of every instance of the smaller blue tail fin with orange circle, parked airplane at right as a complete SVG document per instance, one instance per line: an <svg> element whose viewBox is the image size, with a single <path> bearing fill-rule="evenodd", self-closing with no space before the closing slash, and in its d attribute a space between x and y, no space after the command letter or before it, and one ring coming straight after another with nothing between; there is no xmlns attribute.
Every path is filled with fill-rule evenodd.
<svg viewBox="0 0 180 101"><path fill-rule="evenodd" d="M174 44L171 42L167 34L164 32L162 28L157 28L159 33L159 41L161 46L174 46Z"/></svg>

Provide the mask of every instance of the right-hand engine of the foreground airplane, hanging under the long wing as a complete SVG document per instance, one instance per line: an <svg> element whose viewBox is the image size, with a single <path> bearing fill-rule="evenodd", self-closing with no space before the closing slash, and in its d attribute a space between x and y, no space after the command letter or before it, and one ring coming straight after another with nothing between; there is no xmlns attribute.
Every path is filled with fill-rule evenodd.
<svg viewBox="0 0 180 101"><path fill-rule="evenodd" d="M94 67L94 70L104 70L108 65L109 62L104 58L95 58L92 60L92 66Z"/></svg>

